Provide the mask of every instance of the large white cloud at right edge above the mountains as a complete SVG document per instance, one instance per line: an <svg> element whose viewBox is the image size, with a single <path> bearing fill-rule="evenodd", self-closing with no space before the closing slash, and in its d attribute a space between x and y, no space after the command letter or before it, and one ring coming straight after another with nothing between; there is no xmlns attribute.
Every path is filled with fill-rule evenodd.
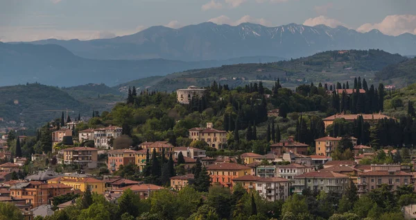
<svg viewBox="0 0 416 220"><path fill-rule="evenodd" d="M380 23L366 23L357 28L365 33L377 29L385 35L401 35L403 33L416 34L416 15L388 15Z"/></svg>

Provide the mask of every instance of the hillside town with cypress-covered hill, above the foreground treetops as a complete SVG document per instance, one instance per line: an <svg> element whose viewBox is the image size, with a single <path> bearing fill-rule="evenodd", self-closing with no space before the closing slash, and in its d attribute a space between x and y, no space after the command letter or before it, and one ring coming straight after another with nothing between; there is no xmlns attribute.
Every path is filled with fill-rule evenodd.
<svg viewBox="0 0 416 220"><path fill-rule="evenodd" d="M272 90L261 82L234 89L214 82L176 94L137 94L133 87L125 103L101 115L94 111L89 121L80 115L65 119L62 112L60 119L39 128L36 137L16 130L2 135L0 201L13 203L25 219L53 219L54 212L78 207L92 195L120 205L126 195L151 201L158 193L180 195L192 189L209 201L215 191L228 190L230 195L251 195L252 205L263 201L283 208L286 203L309 205L300 196L315 201L316 195L317 203L332 196L338 207L323 208L328 217L342 214L341 208L357 209L355 214L367 217L368 210L358 211L353 203L390 194L397 196L400 207L383 212L416 218L411 103L408 116L383 115L383 85L377 91L358 78L353 89L348 86L311 83L291 92L279 81ZM291 96L298 100L281 101ZM317 96L330 107L293 107ZM349 206L343 204L347 196L354 199ZM370 205L372 210L373 202ZM221 212L218 216L227 219L227 212Z"/></svg>

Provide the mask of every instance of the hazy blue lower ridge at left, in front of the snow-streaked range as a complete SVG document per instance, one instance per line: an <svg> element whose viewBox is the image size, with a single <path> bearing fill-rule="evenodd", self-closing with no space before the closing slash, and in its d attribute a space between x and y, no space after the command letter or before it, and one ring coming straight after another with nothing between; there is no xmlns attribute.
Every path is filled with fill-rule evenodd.
<svg viewBox="0 0 416 220"><path fill-rule="evenodd" d="M220 67L243 62L275 62L277 57L246 57L229 60L186 62L178 60L92 60L73 55L56 44L6 44L0 42L0 86L42 83L73 86L86 83L118 85L148 76L176 71Z"/></svg>

